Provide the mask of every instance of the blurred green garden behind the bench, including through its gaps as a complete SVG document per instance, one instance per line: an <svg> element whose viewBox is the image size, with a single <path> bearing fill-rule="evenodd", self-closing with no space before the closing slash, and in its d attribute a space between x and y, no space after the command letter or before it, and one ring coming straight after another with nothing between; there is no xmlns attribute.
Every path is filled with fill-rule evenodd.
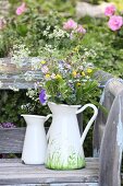
<svg viewBox="0 0 123 186"><path fill-rule="evenodd" d="M109 11L111 16L123 18L122 0L0 1L0 58L11 58L15 50L16 54L19 50L27 53L29 57L47 56L47 49L52 49L52 46L57 47L54 55L62 58L73 46L81 45L82 53L86 49L96 54L95 57L88 57L88 61L101 70L123 78L123 23L118 19L116 27L110 26L111 16L106 13L107 7L110 5L113 5L112 12ZM63 23L67 20L73 20L83 26L78 31L83 33L79 40L74 39L69 43L64 38L62 43L56 36L54 31L59 30L61 34ZM99 95L95 97L91 95L90 98L97 101ZM49 111L26 96L26 91L0 92L2 126L10 123L24 126L21 114L27 112L46 115ZM88 114L85 116L85 123L87 118ZM91 135L88 139L87 155L90 154Z"/></svg>

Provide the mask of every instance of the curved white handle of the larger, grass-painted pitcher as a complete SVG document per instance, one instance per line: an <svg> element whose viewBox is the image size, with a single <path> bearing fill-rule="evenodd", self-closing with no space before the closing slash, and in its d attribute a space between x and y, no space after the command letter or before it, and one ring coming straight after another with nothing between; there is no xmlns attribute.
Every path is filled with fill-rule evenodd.
<svg viewBox="0 0 123 186"><path fill-rule="evenodd" d="M87 124L87 126L85 127L85 130L84 130L84 132L83 132L83 135L82 135L82 138L81 138L81 144L82 144L82 146L83 146L83 143L84 143L84 140L85 140L85 138L86 138L86 135L87 135L89 128L91 127L91 124L94 123L94 120L96 119L96 117L97 117L97 115L98 115L98 108L97 108L94 104L86 104L86 105L84 105L82 108L79 108L79 109L76 112L76 114L82 113L82 112L83 112L84 109L86 109L87 107L94 108L94 115L93 115L93 117L90 118L90 120L88 121L88 124Z"/></svg>

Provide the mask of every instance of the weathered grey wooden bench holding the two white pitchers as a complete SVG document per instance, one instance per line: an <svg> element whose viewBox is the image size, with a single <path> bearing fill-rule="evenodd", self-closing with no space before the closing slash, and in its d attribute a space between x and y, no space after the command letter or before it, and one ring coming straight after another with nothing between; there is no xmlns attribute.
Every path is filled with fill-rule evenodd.
<svg viewBox="0 0 123 186"><path fill-rule="evenodd" d="M22 72L25 72L25 68ZM112 78L111 74L101 71L96 75L101 78L102 86ZM19 75L19 70L10 63L10 59L2 59L0 63L0 81L3 83L1 90L10 89L9 85L16 85L19 89L34 88L33 82L25 82L24 78ZM109 83L109 91L115 102L115 97L123 91L123 85L115 80L114 83ZM0 185L120 186L122 148L118 143L118 136L123 133L122 130L118 133L119 126L113 123L113 117L112 120L109 118L113 114L112 111L107 125L100 124L99 117L97 118L94 128L94 158L86 158L85 168L52 171L44 165L22 164L21 159L0 159ZM0 128L0 153L21 153L24 135L25 128Z"/></svg>

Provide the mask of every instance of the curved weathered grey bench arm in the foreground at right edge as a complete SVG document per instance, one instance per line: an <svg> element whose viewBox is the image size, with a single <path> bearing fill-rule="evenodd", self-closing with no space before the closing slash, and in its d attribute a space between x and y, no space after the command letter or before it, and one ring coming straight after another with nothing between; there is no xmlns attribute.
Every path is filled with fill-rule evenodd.
<svg viewBox="0 0 123 186"><path fill-rule="evenodd" d="M123 90L109 113L100 149L99 186L121 186L123 151Z"/></svg>

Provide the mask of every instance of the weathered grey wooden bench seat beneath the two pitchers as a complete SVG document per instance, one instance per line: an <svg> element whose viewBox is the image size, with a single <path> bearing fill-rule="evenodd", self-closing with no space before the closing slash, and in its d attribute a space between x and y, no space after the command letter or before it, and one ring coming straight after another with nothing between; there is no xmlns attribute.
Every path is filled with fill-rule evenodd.
<svg viewBox="0 0 123 186"><path fill-rule="evenodd" d="M10 163L9 163L10 162ZM86 167L73 171L53 171L44 165L24 165L20 159L0 160L0 184L69 184L98 182L98 159L86 159ZM93 162L93 165L91 165ZM94 163L95 162L95 163ZM95 164L95 167L94 167ZM84 185L86 183L86 185ZM94 185L91 185L94 186ZM96 185L97 186L97 185Z"/></svg>

